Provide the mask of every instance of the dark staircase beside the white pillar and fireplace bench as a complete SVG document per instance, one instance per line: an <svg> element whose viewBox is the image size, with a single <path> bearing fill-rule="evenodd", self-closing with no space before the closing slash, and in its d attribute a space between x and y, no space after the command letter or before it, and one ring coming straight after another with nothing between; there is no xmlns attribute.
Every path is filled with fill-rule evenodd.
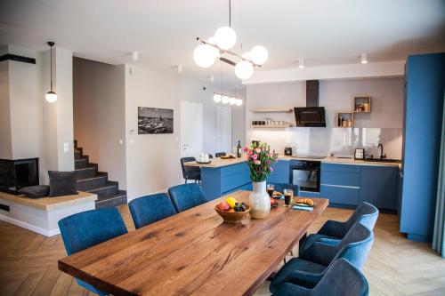
<svg viewBox="0 0 445 296"><path fill-rule="evenodd" d="M126 191L119 190L117 181L109 180L107 172L99 172L98 165L89 162L83 148L74 140L74 169L77 172L77 190L98 196L96 209L126 204Z"/></svg>

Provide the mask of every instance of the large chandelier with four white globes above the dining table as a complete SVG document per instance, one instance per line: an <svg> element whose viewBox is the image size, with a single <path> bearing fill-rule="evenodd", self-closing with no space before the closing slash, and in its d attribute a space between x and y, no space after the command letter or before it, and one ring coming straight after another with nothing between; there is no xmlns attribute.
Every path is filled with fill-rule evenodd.
<svg viewBox="0 0 445 296"><path fill-rule="evenodd" d="M237 33L231 28L231 0L229 0L229 27L221 27L216 30L214 36L207 41L197 38L199 44L193 52L193 60L199 67L208 68L214 64L216 59L235 66L235 75L239 79L248 79L254 74L255 67L261 67L269 58L267 50L256 45L250 52L242 55L231 52L231 48L237 43ZM237 59L238 62L224 58L228 54Z"/></svg>

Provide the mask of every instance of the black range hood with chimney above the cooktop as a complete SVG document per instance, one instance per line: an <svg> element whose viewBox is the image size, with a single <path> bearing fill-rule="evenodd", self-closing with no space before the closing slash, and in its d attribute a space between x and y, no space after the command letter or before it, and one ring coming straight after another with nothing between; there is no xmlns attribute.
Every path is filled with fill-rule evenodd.
<svg viewBox="0 0 445 296"><path fill-rule="evenodd" d="M325 108L319 107L319 81L306 81L306 107L295 107L295 126L326 127Z"/></svg>

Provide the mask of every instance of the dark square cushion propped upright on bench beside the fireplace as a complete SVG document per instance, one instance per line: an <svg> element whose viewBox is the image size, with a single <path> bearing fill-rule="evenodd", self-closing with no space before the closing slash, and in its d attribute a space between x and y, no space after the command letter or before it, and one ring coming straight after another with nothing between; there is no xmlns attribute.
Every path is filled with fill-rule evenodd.
<svg viewBox="0 0 445 296"><path fill-rule="evenodd" d="M76 172L48 171L50 196L77 195Z"/></svg>

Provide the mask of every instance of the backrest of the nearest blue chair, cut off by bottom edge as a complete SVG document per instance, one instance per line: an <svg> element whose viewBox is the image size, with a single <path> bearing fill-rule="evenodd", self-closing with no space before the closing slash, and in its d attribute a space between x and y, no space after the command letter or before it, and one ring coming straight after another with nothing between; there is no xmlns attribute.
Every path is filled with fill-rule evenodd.
<svg viewBox="0 0 445 296"><path fill-rule="evenodd" d="M366 296L368 293L368 281L361 271L348 260L337 259L312 289L311 295Z"/></svg>

